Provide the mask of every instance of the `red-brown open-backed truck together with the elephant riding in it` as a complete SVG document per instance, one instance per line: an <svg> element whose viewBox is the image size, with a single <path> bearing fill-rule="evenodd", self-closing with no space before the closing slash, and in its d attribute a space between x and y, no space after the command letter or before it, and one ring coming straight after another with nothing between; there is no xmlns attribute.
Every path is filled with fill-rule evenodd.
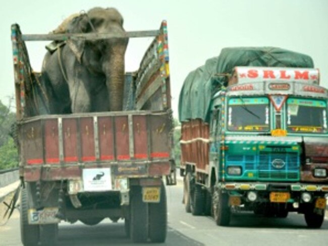
<svg viewBox="0 0 328 246"><path fill-rule="evenodd" d="M116 9L94 8L50 34L11 31L23 245L55 245L61 221L105 218L123 219L133 242L164 242L163 177L176 184L166 21L125 32ZM133 37L154 38L138 70L125 73ZM45 40L35 73L25 42Z"/></svg>

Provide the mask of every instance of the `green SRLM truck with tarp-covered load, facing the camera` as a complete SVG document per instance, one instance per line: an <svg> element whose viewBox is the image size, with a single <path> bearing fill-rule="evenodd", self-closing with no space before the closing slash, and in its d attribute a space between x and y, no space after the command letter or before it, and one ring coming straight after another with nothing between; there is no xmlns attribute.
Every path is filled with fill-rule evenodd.
<svg viewBox="0 0 328 246"><path fill-rule="evenodd" d="M179 98L183 202L229 225L234 211L319 228L328 192L328 92L310 56L225 48L189 73Z"/></svg>

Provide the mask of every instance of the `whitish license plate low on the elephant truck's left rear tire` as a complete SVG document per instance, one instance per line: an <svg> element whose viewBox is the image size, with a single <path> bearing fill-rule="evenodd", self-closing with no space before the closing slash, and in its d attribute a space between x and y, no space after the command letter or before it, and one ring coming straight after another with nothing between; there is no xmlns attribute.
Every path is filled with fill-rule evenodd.
<svg viewBox="0 0 328 246"><path fill-rule="evenodd" d="M59 223L60 219L56 218L58 208L44 208L42 210L29 209L29 224L52 224Z"/></svg>

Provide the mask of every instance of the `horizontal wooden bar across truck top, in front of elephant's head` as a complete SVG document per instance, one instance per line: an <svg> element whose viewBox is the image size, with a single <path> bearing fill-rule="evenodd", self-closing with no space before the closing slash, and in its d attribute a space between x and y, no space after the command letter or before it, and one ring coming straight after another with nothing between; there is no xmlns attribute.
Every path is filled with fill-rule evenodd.
<svg viewBox="0 0 328 246"><path fill-rule="evenodd" d="M132 31L126 32L126 35L118 35L114 33L65 33L65 34L23 34L24 41L52 41L52 40L67 40L67 39L85 39L98 40L108 38L143 38L155 37L159 35L159 30L149 31Z"/></svg>

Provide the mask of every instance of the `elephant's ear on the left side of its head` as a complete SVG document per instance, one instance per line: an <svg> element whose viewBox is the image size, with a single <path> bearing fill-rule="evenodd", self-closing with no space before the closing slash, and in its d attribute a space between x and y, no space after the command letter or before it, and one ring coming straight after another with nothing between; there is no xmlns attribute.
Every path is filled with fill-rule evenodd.
<svg viewBox="0 0 328 246"><path fill-rule="evenodd" d="M68 25L68 33L86 33L88 27L88 17L86 14L81 14L78 17L75 17ZM81 63L82 54L84 51L85 40L84 39L68 39L67 45L75 54L79 63Z"/></svg>

